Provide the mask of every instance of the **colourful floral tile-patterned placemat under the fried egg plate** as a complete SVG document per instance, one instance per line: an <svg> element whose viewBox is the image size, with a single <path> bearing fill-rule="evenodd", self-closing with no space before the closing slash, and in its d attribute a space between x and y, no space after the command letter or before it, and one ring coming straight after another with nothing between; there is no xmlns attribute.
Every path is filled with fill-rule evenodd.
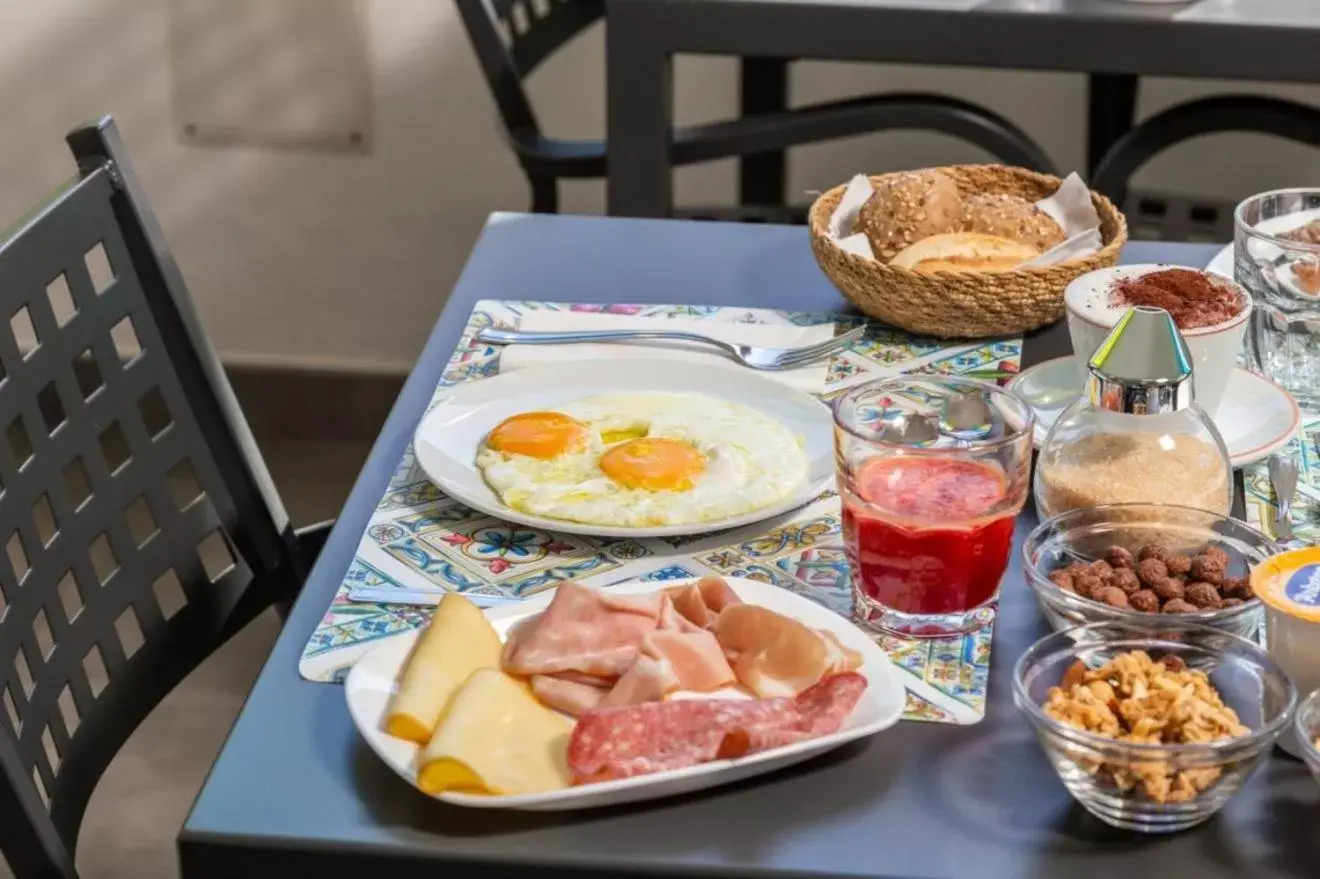
<svg viewBox="0 0 1320 879"><path fill-rule="evenodd" d="M768 309L482 301L430 405L453 385L499 371L499 348L474 343L478 330L515 329L523 314L536 309L799 326L833 322L836 331L863 323L854 315ZM1006 383L1018 371L1022 339L949 344L869 327L862 339L830 360L820 396L830 399L861 381L906 372ZM605 586L717 573L775 583L847 615L850 583L841 540L840 502L833 491L793 513L698 537L606 540L535 531L445 496L426 479L409 447L372 513L343 585L304 649L298 670L309 681L342 681L376 641L424 626L430 616L426 607L350 602L352 586L527 597L565 579ZM939 640L880 639L904 672L908 719L975 723L983 717L993 628L991 623L965 637Z"/></svg>

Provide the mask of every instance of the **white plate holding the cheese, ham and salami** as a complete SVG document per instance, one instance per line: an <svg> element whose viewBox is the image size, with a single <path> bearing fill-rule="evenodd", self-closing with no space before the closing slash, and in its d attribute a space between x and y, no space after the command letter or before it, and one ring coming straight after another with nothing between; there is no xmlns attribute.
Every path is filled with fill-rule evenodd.
<svg viewBox="0 0 1320 879"><path fill-rule="evenodd" d="M564 791L517 796L440 793L436 795L436 798L477 809L525 809L532 812L594 809L620 802L655 800L781 769L854 739L875 735L899 722L907 702L903 682L899 680L898 669L890 663L890 657L866 632L838 614L808 598L795 595L787 589L737 577L726 578L726 581L744 602L768 607L808 626L834 632L843 644L862 655L862 668L858 670L866 676L867 688L838 732L737 760L715 760L685 769L585 784ZM667 581L659 586L653 582L622 583L611 586L610 591L651 593L682 582L688 581ZM486 616L495 626L500 637L504 637L513 623L545 610L552 597L553 590L541 593L520 604L488 610ZM417 632L413 631L381 641L379 647L358 660L358 664L348 673L348 680L345 681L348 713L352 715L352 722L362 738L367 740L376 756L389 764L389 768L413 787L417 787L417 752L420 748L411 742L387 735L381 727L389 700L395 693L395 681L399 680L403 664L416 640Z"/></svg>

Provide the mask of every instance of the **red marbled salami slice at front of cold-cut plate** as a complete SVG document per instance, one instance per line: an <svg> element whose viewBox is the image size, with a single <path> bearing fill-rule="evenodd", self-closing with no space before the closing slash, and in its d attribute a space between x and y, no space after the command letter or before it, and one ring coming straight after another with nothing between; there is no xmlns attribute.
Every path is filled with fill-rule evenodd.
<svg viewBox="0 0 1320 879"><path fill-rule="evenodd" d="M796 697L677 700L583 714L569 739L574 784L680 769L829 735L866 690L855 672Z"/></svg>

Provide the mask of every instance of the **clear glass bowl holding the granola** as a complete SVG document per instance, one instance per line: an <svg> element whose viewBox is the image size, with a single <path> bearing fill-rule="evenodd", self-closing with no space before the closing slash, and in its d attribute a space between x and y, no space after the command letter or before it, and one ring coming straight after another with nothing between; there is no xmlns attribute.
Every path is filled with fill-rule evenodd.
<svg viewBox="0 0 1320 879"><path fill-rule="evenodd" d="M1298 694L1255 644L1177 616L1154 622L1093 623L1047 635L1018 660L1012 697L1064 787L1088 812L1126 830L1173 833L1209 818L1242 787L1287 725ZM1119 742L1056 721L1041 709L1049 689L1076 663L1096 668L1138 649L1155 660L1176 656L1204 672L1250 734L1195 744ZM1191 793L1180 793L1188 788Z"/></svg>

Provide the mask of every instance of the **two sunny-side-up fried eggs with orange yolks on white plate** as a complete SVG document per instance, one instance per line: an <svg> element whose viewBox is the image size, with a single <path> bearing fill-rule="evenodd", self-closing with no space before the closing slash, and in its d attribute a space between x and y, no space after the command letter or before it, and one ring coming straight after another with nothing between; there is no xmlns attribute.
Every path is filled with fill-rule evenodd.
<svg viewBox="0 0 1320 879"><path fill-rule="evenodd" d="M788 428L702 393L612 393L523 412L487 434L477 467L524 513L597 525L714 521L779 503L807 480Z"/></svg>

